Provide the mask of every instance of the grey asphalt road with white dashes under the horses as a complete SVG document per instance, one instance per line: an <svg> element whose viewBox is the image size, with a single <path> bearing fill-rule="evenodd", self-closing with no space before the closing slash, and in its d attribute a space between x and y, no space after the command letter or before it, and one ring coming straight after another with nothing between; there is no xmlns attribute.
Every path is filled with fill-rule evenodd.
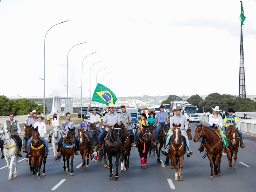
<svg viewBox="0 0 256 192"><path fill-rule="evenodd" d="M195 133L195 124L191 123L192 136ZM199 143L190 141L190 149L193 155L184 158L183 180L174 181L175 171L170 166L156 163L156 158L148 157L148 168L140 167L140 157L137 148L132 148L130 156L130 169L120 173L117 181L108 181L109 169L89 160L89 167L81 170L81 156L75 156L74 176L67 175L63 171L63 161L55 163L53 150L46 160L46 176L37 179L29 171L29 165L24 158L19 158L17 167L18 177L8 181L8 168L4 159L0 159L0 188L1 191L51 191L60 181L63 181L55 191L255 191L256 188L256 137L244 134L245 148L239 148L237 170L228 169L226 155L221 158L221 176L214 175L210 179L210 162L204 154L197 150ZM49 145L52 147L52 144ZM115 158L114 158L115 159ZM160 159L164 162L165 157L161 154ZM115 161L115 160L114 160ZM244 165L245 164L245 165ZM234 165L234 163L233 163ZM246 166L247 165L247 166ZM250 167L248 167L250 166ZM4 167L4 168L3 168ZM113 166L115 172L115 166ZM14 171L13 171L14 173ZM171 184L169 184L169 182ZM172 187L172 188L171 188ZM174 189L175 188L175 189Z"/></svg>

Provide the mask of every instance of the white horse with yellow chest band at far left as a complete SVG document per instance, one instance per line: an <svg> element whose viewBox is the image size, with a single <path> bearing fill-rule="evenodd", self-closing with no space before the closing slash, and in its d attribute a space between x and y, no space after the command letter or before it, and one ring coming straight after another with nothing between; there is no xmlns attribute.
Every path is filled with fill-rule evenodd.
<svg viewBox="0 0 256 192"><path fill-rule="evenodd" d="M11 138L11 136L4 131L3 127L0 129L0 140L4 141L4 158L7 163L9 170L8 181L12 180L12 164L15 160L15 172L14 177L17 177L17 164L18 164L18 146L16 142ZM14 147L13 147L14 146Z"/></svg>

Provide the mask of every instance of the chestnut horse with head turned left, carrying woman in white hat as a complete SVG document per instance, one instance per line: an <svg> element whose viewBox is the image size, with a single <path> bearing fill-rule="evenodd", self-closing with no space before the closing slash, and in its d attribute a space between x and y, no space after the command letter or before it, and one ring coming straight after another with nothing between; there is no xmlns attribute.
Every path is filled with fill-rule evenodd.
<svg viewBox="0 0 256 192"><path fill-rule="evenodd" d="M223 142L209 127L196 124L196 133L194 136L194 142L201 141L201 138L205 138L205 153L208 156L211 166L211 176L210 179L213 179L212 167L214 167L215 175L221 175L220 173L220 159L222 156L222 145ZM212 147L211 147L212 146ZM205 157L205 156L204 156Z"/></svg>

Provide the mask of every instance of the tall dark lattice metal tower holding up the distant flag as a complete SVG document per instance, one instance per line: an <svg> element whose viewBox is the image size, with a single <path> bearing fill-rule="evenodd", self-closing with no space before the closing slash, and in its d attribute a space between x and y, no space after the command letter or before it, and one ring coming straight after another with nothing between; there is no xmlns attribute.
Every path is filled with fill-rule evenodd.
<svg viewBox="0 0 256 192"><path fill-rule="evenodd" d="M241 10L242 10L242 1ZM241 23L241 41L240 41L240 69L239 69L239 97L246 98L245 94L245 78L244 78L244 44L243 44L243 28Z"/></svg>

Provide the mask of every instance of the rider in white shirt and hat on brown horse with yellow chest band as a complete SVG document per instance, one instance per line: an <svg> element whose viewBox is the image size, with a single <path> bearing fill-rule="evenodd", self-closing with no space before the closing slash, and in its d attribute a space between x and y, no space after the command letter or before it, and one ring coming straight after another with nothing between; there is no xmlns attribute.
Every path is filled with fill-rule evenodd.
<svg viewBox="0 0 256 192"><path fill-rule="evenodd" d="M45 153L45 156L49 156L48 141L45 139L45 136L46 136L46 125L45 125L44 122L42 122L42 120L44 120L44 117L42 115L38 115L36 117L36 119L38 121L34 124L34 129L36 129L36 126L38 127L39 135L44 140L44 145L45 145L45 148L47 150L47 152ZM31 143L32 140L33 140L33 137L30 137L29 140L28 140L28 147L27 147L28 156L31 155L31 153L29 152L29 148L30 148L30 143Z"/></svg>

